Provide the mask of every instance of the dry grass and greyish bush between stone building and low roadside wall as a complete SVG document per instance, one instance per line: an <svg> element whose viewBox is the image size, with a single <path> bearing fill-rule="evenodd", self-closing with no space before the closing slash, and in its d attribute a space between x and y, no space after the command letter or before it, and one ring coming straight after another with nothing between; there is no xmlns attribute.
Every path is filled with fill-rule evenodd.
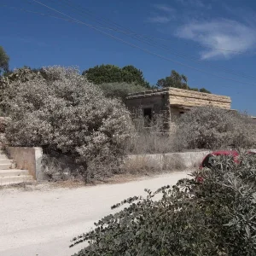
<svg viewBox="0 0 256 256"><path fill-rule="evenodd" d="M137 137L127 144L129 154L166 154L196 149L256 147L256 124L247 114L223 108L197 107L183 113L165 131L165 117L157 115L148 128L143 116L132 116Z"/></svg>

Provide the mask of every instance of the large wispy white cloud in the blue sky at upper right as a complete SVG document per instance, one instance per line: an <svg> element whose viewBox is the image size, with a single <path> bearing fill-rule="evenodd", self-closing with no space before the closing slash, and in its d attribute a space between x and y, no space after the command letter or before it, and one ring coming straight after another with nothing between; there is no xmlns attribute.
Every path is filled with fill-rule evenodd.
<svg viewBox="0 0 256 256"><path fill-rule="evenodd" d="M200 53L203 60L230 58L256 45L256 30L236 20L188 23L179 26L175 35L201 44L205 48Z"/></svg>

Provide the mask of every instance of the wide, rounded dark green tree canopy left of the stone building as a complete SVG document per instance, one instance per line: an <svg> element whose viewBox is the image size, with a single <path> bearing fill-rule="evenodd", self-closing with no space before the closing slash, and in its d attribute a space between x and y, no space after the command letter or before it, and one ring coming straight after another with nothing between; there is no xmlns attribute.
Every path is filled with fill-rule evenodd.
<svg viewBox="0 0 256 256"><path fill-rule="evenodd" d="M144 79L143 72L134 66L117 67L111 64L90 67L82 73L94 84L127 83L138 84L149 88L149 83Z"/></svg>

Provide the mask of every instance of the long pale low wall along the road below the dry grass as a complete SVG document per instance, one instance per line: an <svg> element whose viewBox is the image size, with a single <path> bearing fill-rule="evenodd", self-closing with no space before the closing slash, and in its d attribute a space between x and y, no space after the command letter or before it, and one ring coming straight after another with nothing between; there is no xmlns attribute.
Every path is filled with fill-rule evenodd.
<svg viewBox="0 0 256 256"><path fill-rule="evenodd" d="M160 171L172 171L177 169L188 169L200 166L203 158L211 151L194 151L169 154L132 154L125 160L125 165L144 163L154 166Z"/></svg>

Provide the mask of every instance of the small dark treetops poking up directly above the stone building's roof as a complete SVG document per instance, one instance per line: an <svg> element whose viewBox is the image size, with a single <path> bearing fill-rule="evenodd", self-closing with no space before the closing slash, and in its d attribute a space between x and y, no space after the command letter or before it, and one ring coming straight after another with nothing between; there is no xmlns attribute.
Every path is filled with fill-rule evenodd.
<svg viewBox="0 0 256 256"><path fill-rule="evenodd" d="M190 88L188 85L188 78L183 74L177 73L177 71L175 70L172 70L171 75L166 77L165 79L159 79L156 85L158 87L174 87L185 90L195 90L205 93L211 93L211 91L205 88Z"/></svg>

